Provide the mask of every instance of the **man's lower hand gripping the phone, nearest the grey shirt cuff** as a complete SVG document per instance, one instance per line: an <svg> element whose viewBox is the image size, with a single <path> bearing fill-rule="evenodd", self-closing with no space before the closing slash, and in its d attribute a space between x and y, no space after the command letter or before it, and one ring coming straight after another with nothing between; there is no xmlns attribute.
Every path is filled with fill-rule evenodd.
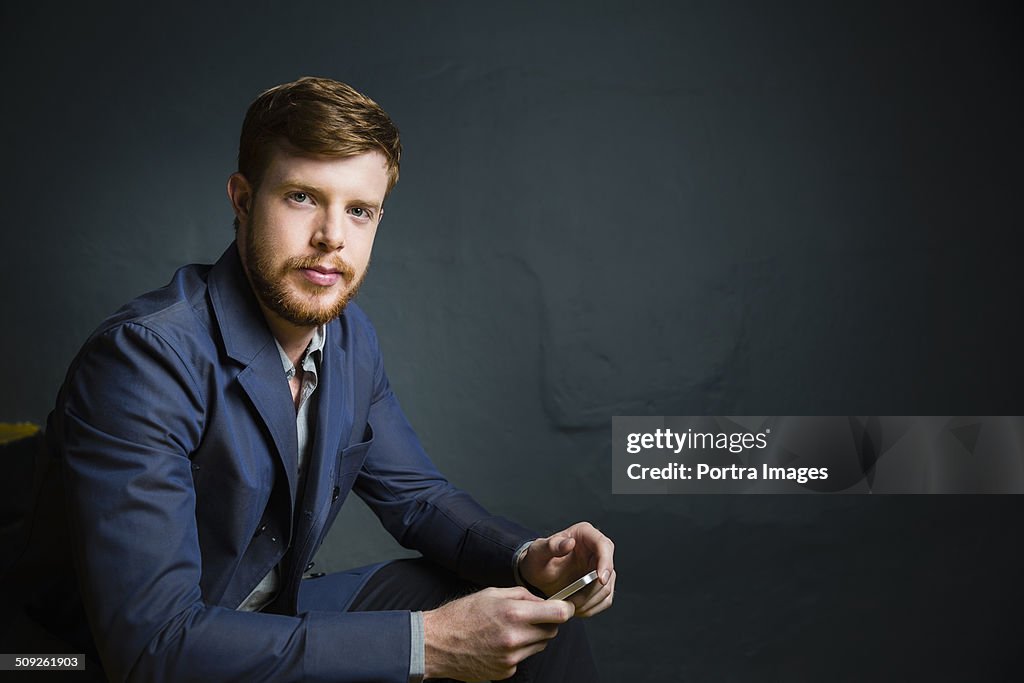
<svg viewBox="0 0 1024 683"><path fill-rule="evenodd" d="M502 680L572 617L564 600L525 588L486 588L423 612L426 678Z"/></svg>

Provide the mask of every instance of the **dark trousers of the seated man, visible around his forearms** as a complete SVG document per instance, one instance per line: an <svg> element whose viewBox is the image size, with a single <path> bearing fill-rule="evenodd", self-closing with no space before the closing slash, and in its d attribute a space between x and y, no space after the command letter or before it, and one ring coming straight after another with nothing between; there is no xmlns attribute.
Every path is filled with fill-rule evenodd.
<svg viewBox="0 0 1024 683"><path fill-rule="evenodd" d="M303 581L302 592L315 594L319 609L330 609L332 577ZM313 588L315 585L315 588ZM429 560L395 560L378 568L364 584L349 605L339 605L349 611L387 609L428 610L456 598L480 590L480 586L459 579ZM307 589L313 589L307 591ZM301 598L300 605L306 602ZM327 598L325 600L325 598ZM429 679L447 681L449 679ZM524 659L515 675L515 683L595 683L599 680L587 641L583 620L572 618L558 628L558 635L541 652Z"/></svg>

